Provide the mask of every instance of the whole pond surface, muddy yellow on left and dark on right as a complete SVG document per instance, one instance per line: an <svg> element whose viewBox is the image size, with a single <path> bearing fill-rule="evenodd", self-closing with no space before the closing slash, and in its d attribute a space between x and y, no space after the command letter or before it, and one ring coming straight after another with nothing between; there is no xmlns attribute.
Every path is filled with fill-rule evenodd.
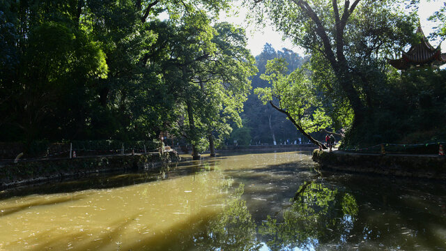
<svg viewBox="0 0 446 251"><path fill-rule="evenodd" d="M446 184L226 153L0 192L0 250L446 250Z"/></svg>

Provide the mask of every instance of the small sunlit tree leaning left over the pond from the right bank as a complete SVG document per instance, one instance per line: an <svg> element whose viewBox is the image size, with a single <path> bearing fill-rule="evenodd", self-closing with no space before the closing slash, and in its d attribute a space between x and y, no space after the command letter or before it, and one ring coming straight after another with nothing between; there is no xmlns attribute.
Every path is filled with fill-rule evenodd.
<svg viewBox="0 0 446 251"><path fill-rule="evenodd" d="M305 70L299 68L286 75L288 71L284 59L272 59L266 64L266 73L261 75L270 86L257 88L254 93L266 105L267 102L286 114L287 118L298 128L299 132L314 144L326 148L314 139L309 132L315 132L330 125L330 119L325 116L321 104L314 95L314 86L305 76Z"/></svg>

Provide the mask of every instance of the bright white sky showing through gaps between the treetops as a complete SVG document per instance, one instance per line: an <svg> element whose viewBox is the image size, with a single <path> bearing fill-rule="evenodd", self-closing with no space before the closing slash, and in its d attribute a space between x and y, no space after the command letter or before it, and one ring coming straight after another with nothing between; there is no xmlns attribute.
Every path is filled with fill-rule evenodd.
<svg viewBox="0 0 446 251"><path fill-rule="evenodd" d="M436 26L436 24L434 24L433 22L428 21L427 18L434 12L439 10L441 6L443 6L445 1L446 0L420 0L420 23L425 36L429 36L429 33L431 33L433 26ZM247 8L244 8L240 5L234 5L233 10L238 10L238 16L222 15L220 17L220 21L230 22L246 29L248 38L247 47L249 50L251 50L254 56L261 53L261 51L263 50L263 45L265 45L265 43L270 43L272 47L275 48L275 50L281 50L283 47L286 47L289 50L298 52L298 54L300 54L301 56L305 55L304 50L293 45L291 43L291 40L282 40L282 33L275 31L272 26L267 25L264 28L256 28L254 27L254 24L247 24L247 22L245 21ZM439 43L439 40L431 41L431 45L433 47L438 46ZM442 52L446 52L446 42L442 43L441 50Z"/></svg>

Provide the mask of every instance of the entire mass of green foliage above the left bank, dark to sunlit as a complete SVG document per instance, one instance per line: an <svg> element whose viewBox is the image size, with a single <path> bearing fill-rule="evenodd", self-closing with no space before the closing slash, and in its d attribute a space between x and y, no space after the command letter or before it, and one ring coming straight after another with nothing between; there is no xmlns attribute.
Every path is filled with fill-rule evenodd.
<svg viewBox="0 0 446 251"><path fill-rule="evenodd" d="M0 138L151 139L176 127L186 101L209 121L221 116L227 134L224 121L240 123L254 72L244 31L212 24L228 7L226 0L1 1ZM162 12L167 20L158 20ZM197 79L208 82L206 102Z"/></svg>

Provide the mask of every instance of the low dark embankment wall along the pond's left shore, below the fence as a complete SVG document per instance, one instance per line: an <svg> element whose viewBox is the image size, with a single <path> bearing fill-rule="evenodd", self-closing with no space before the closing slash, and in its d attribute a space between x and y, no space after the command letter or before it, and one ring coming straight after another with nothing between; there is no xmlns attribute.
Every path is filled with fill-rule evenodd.
<svg viewBox="0 0 446 251"><path fill-rule="evenodd" d="M162 162L174 158L177 158L176 154L164 153L164 155L104 155L10 163L0 167L0 189L61 178L88 176L99 172L155 171L162 166Z"/></svg>

